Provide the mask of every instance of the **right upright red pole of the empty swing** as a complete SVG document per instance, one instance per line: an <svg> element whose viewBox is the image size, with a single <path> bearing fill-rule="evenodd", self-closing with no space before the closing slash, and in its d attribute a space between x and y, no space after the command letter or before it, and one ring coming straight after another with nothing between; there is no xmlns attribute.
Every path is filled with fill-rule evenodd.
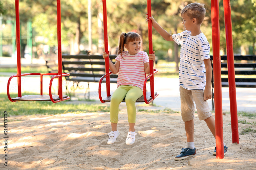
<svg viewBox="0 0 256 170"><path fill-rule="evenodd" d="M60 0L57 0L57 37L58 37L58 95L62 97L62 56L61 56L61 18L60 18Z"/></svg>

